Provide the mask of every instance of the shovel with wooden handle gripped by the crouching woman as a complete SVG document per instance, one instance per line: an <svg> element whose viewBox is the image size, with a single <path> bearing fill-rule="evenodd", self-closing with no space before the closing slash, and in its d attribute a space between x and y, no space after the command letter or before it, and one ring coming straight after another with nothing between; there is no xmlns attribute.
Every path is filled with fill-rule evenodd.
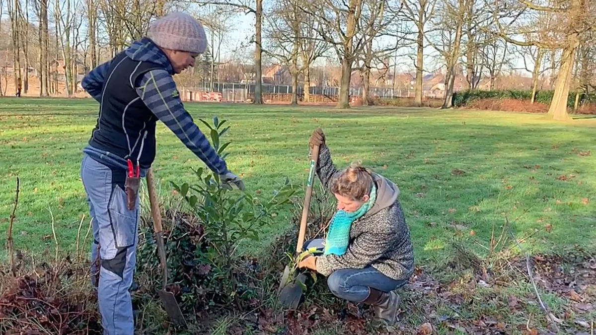
<svg viewBox="0 0 596 335"><path fill-rule="evenodd" d="M311 155L311 169L308 175L308 182L306 183L306 194L304 197L304 206L302 207L302 218L300 218L300 230L298 233L298 243L296 244L296 256L302 253L302 244L304 243L304 235L306 234L306 219L308 219L309 207L311 207L312 183L315 179L316 162L319 159L319 146L315 145L312 148ZM280 302L283 306L296 309L302 297L302 286L306 281L306 275L299 274L293 280L290 280L290 266L286 265L284 273L281 276L280 287L278 293L280 295Z"/></svg>

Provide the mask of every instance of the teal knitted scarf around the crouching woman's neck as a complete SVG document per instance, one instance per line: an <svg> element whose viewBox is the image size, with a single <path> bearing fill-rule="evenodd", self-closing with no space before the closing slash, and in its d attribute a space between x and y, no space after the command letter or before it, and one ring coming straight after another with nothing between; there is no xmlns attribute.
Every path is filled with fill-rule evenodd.
<svg viewBox="0 0 596 335"><path fill-rule="evenodd" d="M325 238L325 252L324 255L343 255L347 250L347 244L350 240L350 227L352 222L365 215L368 210L373 207L375 198L377 198L377 188L373 184L370 198L367 202L362 204L355 212L346 212L345 210L338 210L331 218L331 224L327 238Z"/></svg>

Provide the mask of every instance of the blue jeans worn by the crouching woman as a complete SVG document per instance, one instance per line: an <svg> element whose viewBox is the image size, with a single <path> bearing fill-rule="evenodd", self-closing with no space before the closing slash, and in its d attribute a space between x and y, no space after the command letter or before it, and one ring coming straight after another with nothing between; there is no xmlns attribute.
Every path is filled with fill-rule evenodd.
<svg viewBox="0 0 596 335"><path fill-rule="evenodd" d="M324 250L321 238L306 241L303 250L316 247ZM406 280L395 280L367 266L364 269L341 269L334 271L327 278L327 286L331 293L351 302L363 302L368 298L370 290L389 292L399 289L407 283Z"/></svg>

